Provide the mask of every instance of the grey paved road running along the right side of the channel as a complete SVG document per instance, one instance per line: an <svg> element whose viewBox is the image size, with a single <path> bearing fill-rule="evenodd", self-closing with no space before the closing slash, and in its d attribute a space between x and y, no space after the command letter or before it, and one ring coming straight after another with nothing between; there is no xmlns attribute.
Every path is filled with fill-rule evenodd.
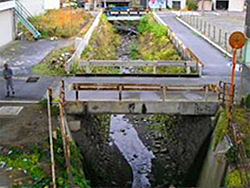
<svg viewBox="0 0 250 188"><path fill-rule="evenodd" d="M229 58L224 57L220 51L180 23L175 18L175 14L160 12L157 14L204 63L204 76L218 76L218 79L220 79L220 77L230 76L231 60Z"/></svg>

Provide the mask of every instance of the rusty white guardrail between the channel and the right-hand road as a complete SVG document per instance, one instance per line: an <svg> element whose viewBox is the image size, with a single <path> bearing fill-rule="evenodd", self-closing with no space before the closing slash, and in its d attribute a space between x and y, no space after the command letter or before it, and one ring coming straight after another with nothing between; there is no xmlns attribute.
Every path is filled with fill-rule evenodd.
<svg viewBox="0 0 250 188"><path fill-rule="evenodd" d="M155 20L162 24L167 26L167 24L155 13L153 12ZM197 70L199 70L199 75L202 75L202 67L204 67L204 64L201 62L201 60L192 52L191 49L186 47L183 42L176 36L176 34L167 27L167 36L170 38L171 42L177 48L178 52L184 57L184 59L192 61L196 63L197 65Z"/></svg>

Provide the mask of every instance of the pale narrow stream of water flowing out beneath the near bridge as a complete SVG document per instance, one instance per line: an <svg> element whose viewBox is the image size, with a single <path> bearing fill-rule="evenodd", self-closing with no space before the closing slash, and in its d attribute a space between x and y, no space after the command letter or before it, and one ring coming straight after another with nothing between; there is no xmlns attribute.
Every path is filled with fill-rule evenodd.
<svg viewBox="0 0 250 188"><path fill-rule="evenodd" d="M133 171L132 187L150 187L147 178L154 158L140 140L137 131L125 115L112 115L110 121L110 145L115 144Z"/></svg>

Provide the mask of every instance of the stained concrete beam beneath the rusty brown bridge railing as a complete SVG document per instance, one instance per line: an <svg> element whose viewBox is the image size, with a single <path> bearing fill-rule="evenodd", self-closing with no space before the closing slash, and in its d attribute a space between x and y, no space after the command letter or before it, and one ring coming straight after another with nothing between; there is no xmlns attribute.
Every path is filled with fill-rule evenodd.
<svg viewBox="0 0 250 188"><path fill-rule="evenodd" d="M67 114L180 114L214 115L218 102L189 101L85 101L67 102Z"/></svg>

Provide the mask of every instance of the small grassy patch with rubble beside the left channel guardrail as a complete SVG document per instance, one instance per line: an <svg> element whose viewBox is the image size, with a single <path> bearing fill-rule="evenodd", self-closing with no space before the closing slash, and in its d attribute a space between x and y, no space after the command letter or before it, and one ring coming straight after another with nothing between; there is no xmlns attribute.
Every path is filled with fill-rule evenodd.
<svg viewBox="0 0 250 188"><path fill-rule="evenodd" d="M63 76L66 74L64 64L74 51L73 46L53 51L43 62L34 66L32 72L37 75Z"/></svg>

